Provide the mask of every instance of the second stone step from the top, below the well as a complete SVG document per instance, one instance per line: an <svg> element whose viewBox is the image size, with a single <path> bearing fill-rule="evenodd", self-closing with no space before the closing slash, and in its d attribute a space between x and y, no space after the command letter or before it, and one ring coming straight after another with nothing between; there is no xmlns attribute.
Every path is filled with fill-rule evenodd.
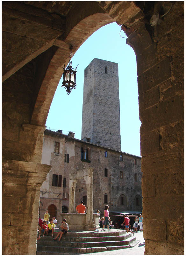
<svg viewBox="0 0 186 256"><path fill-rule="evenodd" d="M100 242L100 241L121 241L121 240L125 240L127 238L129 238L129 236L131 236L131 234L126 234L126 235L121 235L121 236L97 236L97 237L65 237L62 236L61 237L61 241L65 241L65 242L79 242L79 243L85 243L85 242ZM54 236L55 237L55 236ZM39 240L39 244L44 244L47 242L51 242L53 241L51 236L44 236L41 237L41 239ZM59 238L59 237L58 237ZM55 241L54 241L55 242Z"/></svg>

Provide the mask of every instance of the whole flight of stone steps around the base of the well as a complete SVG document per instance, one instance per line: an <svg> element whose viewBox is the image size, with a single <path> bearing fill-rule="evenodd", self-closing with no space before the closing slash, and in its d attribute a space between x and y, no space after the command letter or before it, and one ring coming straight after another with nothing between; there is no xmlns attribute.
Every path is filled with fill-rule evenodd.
<svg viewBox="0 0 186 256"><path fill-rule="evenodd" d="M54 232L54 237L57 232ZM51 236L41 236L37 241L36 254L83 254L133 247L136 237L126 230L69 231L61 241Z"/></svg>

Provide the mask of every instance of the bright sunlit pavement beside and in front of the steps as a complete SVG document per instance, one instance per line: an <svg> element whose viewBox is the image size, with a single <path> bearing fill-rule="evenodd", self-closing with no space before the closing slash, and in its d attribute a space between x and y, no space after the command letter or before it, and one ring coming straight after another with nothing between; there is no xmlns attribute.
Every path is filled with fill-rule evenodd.
<svg viewBox="0 0 186 256"><path fill-rule="evenodd" d="M113 251L105 251L105 252L94 252L94 253L83 253L84 255L97 255L97 254L101 254L101 255L144 255L144 251L145 251L145 240L143 238L143 232L136 232L135 235L136 236L136 240L139 241L138 244L136 244L136 246L132 247L132 248L125 248L125 249L121 249L121 250L113 250ZM82 255L82 254L81 254Z"/></svg>

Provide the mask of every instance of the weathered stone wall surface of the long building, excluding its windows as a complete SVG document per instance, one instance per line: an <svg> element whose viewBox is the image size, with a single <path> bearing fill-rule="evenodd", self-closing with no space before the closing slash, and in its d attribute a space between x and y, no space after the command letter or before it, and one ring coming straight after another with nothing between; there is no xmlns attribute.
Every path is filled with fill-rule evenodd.
<svg viewBox="0 0 186 256"><path fill-rule="evenodd" d="M58 158L54 161L54 141L60 142L60 154ZM65 141L65 143L64 143ZM141 192L141 158L138 156L132 156L121 151L112 150L109 148L104 148L101 146L96 146L94 144L84 142L81 140L73 139L69 136L52 132L49 130L45 131L43 153L42 153L42 163L44 164L44 159L48 159L49 148L51 150L50 164L52 169L48 175L50 179L46 180L41 186L41 190L44 191L44 186L47 193L43 197L48 198L46 205L52 204L54 199L58 196L61 200L60 207L56 205L58 209L57 216L61 213L62 205L68 206L68 198L64 198L64 193L69 194L69 174L75 171L88 169L92 167L94 169L94 212L96 209L100 209L102 212L104 210L104 194L108 195L108 202L110 206L110 211L125 211L125 210L142 210L142 205L136 205L135 196L139 195L142 202L142 192ZM86 150L89 149L89 159L88 161L81 160L81 148ZM104 151L107 150L108 157L104 156ZM64 163L64 154L69 154L69 163ZM46 155L45 155L46 154ZM123 162L120 161L120 155L123 156ZM136 164L134 164L134 159L136 159ZM48 162L47 162L48 163ZM108 169L108 176L105 177L104 169ZM123 172L123 178L120 178L120 172ZM62 180L66 178L66 188L59 188L52 186L52 174L61 174ZM134 174L137 175L137 180L134 180ZM47 184L47 186L46 186ZM58 191L58 193L56 193ZM63 193L62 193L63 192ZM43 192L42 192L43 193ZM43 197L40 194L40 201ZM63 194L63 197L62 197ZM75 205L79 204L83 200L83 196L87 195L85 180L81 179L77 181L76 191L75 191ZM126 197L126 203L121 205L120 196ZM58 204L59 205L59 204ZM42 210L47 208L40 205L40 213ZM43 212L42 212L43 214ZM41 215L42 215L41 214Z"/></svg>

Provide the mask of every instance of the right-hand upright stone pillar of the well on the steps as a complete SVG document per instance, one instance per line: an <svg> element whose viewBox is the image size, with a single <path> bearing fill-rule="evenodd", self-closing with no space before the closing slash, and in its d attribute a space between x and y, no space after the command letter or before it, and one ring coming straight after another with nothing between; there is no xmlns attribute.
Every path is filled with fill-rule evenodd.
<svg viewBox="0 0 186 256"><path fill-rule="evenodd" d="M87 214L85 230L96 230L93 220L93 169L88 170L89 175L83 177L87 187Z"/></svg>

